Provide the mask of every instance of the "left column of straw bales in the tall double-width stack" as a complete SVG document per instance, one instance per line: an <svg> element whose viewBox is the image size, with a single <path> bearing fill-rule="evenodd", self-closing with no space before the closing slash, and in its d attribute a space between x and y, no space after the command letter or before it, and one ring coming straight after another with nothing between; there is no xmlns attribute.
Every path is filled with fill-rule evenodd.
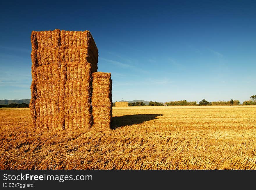
<svg viewBox="0 0 256 190"><path fill-rule="evenodd" d="M64 86L60 77L60 30L31 33L30 113L34 129L63 129Z"/></svg>

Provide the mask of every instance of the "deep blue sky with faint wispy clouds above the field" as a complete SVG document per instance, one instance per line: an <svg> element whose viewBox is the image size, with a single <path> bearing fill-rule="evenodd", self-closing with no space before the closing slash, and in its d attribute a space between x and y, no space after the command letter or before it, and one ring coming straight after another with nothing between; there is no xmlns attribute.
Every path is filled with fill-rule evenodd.
<svg viewBox="0 0 256 190"><path fill-rule="evenodd" d="M90 30L112 101L256 94L256 1L1 2L0 100L31 98L31 31Z"/></svg>

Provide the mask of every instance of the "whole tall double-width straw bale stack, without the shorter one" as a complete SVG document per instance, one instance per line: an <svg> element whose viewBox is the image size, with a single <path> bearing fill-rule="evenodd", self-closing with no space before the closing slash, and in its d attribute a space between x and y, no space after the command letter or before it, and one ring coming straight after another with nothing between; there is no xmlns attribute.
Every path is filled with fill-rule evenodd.
<svg viewBox="0 0 256 190"><path fill-rule="evenodd" d="M35 129L89 129L98 49L89 31L32 31L31 102Z"/></svg>

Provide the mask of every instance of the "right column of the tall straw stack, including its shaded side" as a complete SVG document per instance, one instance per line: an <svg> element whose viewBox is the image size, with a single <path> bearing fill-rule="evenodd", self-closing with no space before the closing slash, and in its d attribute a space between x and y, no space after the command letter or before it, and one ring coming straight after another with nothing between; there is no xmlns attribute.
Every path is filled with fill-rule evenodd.
<svg viewBox="0 0 256 190"><path fill-rule="evenodd" d="M92 73L98 69L98 49L89 31L61 30L61 57L65 65L65 129L91 128Z"/></svg>

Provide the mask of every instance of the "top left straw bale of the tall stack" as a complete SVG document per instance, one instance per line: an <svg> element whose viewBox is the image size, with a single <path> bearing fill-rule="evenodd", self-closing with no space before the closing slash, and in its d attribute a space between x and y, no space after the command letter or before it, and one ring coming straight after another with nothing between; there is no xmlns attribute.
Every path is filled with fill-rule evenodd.
<svg viewBox="0 0 256 190"><path fill-rule="evenodd" d="M60 46L61 37L60 30L49 31L32 31L31 32L31 44L32 50L42 49L46 47L58 47Z"/></svg>

